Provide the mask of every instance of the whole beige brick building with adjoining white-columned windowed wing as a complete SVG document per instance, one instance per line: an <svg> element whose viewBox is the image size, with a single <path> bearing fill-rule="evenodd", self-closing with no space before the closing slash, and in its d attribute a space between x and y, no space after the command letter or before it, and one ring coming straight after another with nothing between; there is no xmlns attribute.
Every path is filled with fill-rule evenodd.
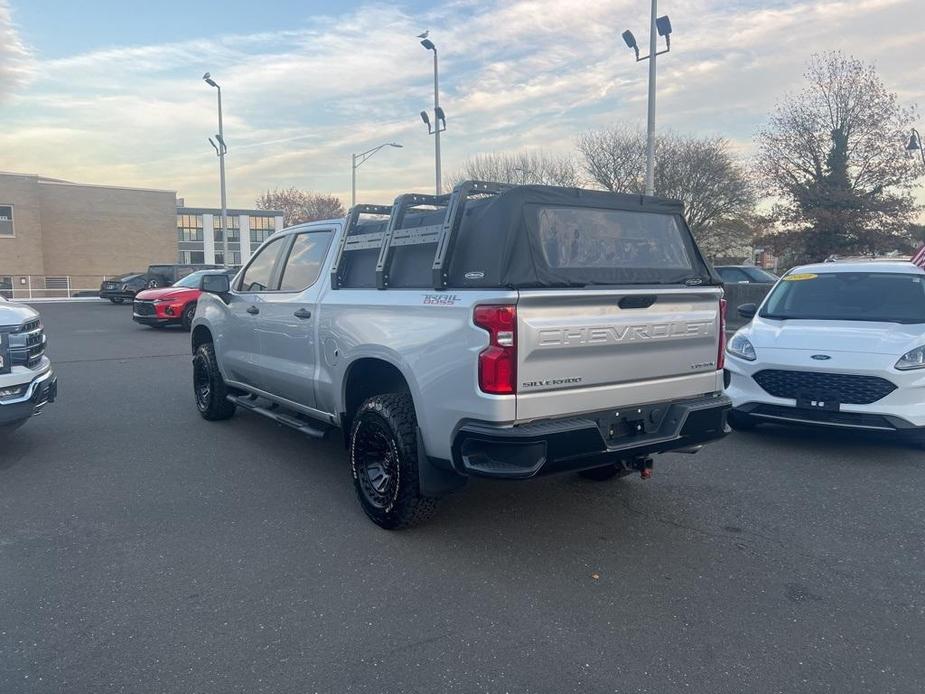
<svg viewBox="0 0 925 694"><path fill-rule="evenodd" d="M229 210L231 263L246 262L282 213ZM178 207L171 190L87 185L0 172L0 291L17 298L91 290L155 263L222 263L221 212Z"/></svg>

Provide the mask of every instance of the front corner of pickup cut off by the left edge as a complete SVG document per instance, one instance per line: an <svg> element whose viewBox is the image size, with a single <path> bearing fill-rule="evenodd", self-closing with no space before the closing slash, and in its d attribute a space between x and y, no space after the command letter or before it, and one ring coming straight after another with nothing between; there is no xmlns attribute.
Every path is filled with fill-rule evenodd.
<svg viewBox="0 0 925 694"><path fill-rule="evenodd" d="M45 344L38 311L0 296L0 437L55 400L58 379Z"/></svg>

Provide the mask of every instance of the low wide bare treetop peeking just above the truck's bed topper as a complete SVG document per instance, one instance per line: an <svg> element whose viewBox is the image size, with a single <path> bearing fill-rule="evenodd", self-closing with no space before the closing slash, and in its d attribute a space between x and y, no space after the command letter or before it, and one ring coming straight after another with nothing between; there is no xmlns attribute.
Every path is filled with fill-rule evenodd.
<svg viewBox="0 0 925 694"><path fill-rule="evenodd" d="M492 152L469 159L453 176L454 183L475 179L515 183L574 187L579 184L574 160L549 152Z"/></svg>

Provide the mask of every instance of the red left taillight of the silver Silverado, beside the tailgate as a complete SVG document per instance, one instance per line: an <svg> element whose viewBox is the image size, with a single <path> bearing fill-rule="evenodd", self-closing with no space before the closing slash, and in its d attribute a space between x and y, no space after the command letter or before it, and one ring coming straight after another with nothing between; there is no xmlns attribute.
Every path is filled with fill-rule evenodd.
<svg viewBox="0 0 925 694"><path fill-rule="evenodd" d="M517 391L517 307L476 306L472 321L488 331L488 347L479 354L479 388L492 395Z"/></svg>

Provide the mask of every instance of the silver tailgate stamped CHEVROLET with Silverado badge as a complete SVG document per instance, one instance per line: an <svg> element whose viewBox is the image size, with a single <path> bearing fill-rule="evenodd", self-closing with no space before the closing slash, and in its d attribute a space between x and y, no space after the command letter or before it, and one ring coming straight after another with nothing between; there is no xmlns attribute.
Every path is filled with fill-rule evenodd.
<svg viewBox="0 0 925 694"><path fill-rule="evenodd" d="M718 287L521 291L517 420L722 389Z"/></svg>

